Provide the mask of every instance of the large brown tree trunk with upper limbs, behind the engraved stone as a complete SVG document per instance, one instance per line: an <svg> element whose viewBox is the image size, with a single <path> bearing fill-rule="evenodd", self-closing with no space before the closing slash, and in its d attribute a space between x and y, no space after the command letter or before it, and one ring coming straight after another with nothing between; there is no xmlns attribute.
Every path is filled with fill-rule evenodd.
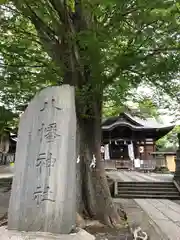
<svg viewBox="0 0 180 240"><path fill-rule="evenodd" d="M109 226L117 226L121 223L121 219L111 199L105 171L100 161L103 82L102 79L94 81L97 76L100 76L99 73L92 78L92 66L88 56L91 47L88 47L86 41L80 40L81 38L78 40L78 37L86 31L87 33L89 30L94 31L96 21L93 18L93 11L88 10L82 1L75 1L73 10L66 1L60 2L51 1L52 4L50 4L50 11L53 7L59 16L58 33L57 26L50 27L44 19L41 19L36 7L31 5L31 1L25 4L19 4L17 1L16 5L26 16L30 17L42 46L56 65L60 66L64 75L63 83L75 86L79 95L83 96L83 100L80 99L80 107L79 102L77 104L76 111L80 129L81 158L79 166L81 178L78 182L82 186L82 201L77 201L77 204L89 216ZM59 29L62 30L60 35ZM100 55L99 48L97 56ZM94 169L90 168L93 155L96 158Z"/></svg>

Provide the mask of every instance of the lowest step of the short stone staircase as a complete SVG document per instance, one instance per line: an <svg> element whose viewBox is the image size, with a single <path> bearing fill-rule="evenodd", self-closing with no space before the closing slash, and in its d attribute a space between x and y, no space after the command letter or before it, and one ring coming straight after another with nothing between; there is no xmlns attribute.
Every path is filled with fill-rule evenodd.
<svg viewBox="0 0 180 240"><path fill-rule="evenodd" d="M169 200L180 200L180 195L136 195L136 194L121 194L116 195L114 198L130 198L130 199L136 199L136 198L149 198L149 199L169 199Z"/></svg>

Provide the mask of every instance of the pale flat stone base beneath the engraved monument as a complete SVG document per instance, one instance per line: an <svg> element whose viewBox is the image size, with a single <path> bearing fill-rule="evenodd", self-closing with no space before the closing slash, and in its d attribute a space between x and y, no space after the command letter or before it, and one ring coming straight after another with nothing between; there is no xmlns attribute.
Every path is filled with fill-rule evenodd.
<svg viewBox="0 0 180 240"><path fill-rule="evenodd" d="M95 237L83 229L71 234L51 234L44 232L19 232L0 227L1 240L95 240Z"/></svg>

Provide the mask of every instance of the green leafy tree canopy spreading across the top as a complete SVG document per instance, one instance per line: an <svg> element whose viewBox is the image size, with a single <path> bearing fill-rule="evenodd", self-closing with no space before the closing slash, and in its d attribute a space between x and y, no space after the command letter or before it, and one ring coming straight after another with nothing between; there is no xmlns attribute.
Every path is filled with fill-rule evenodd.
<svg viewBox="0 0 180 240"><path fill-rule="evenodd" d="M142 81L172 88L180 60L178 3L86 0L75 8L70 1L66 8L56 2L13 1L20 11L12 4L1 6L1 101L19 104L42 87L59 84L65 72L73 71L70 57L74 67L80 66L70 83L104 89L104 101L116 98L123 105L128 90ZM76 56L63 52L68 37ZM84 68L90 81L82 80Z"/></svg>

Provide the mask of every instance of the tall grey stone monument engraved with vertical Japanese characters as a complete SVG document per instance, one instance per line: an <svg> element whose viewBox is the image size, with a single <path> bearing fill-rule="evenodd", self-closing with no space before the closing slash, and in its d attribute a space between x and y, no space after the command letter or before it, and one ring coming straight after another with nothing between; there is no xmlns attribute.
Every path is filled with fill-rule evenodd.
<svg viewBox="0 0 180 240"><path fill-rule="evenodd" d="M74 88L38 93L20 120L8 228L69 233L76 209Z"/></svg>

